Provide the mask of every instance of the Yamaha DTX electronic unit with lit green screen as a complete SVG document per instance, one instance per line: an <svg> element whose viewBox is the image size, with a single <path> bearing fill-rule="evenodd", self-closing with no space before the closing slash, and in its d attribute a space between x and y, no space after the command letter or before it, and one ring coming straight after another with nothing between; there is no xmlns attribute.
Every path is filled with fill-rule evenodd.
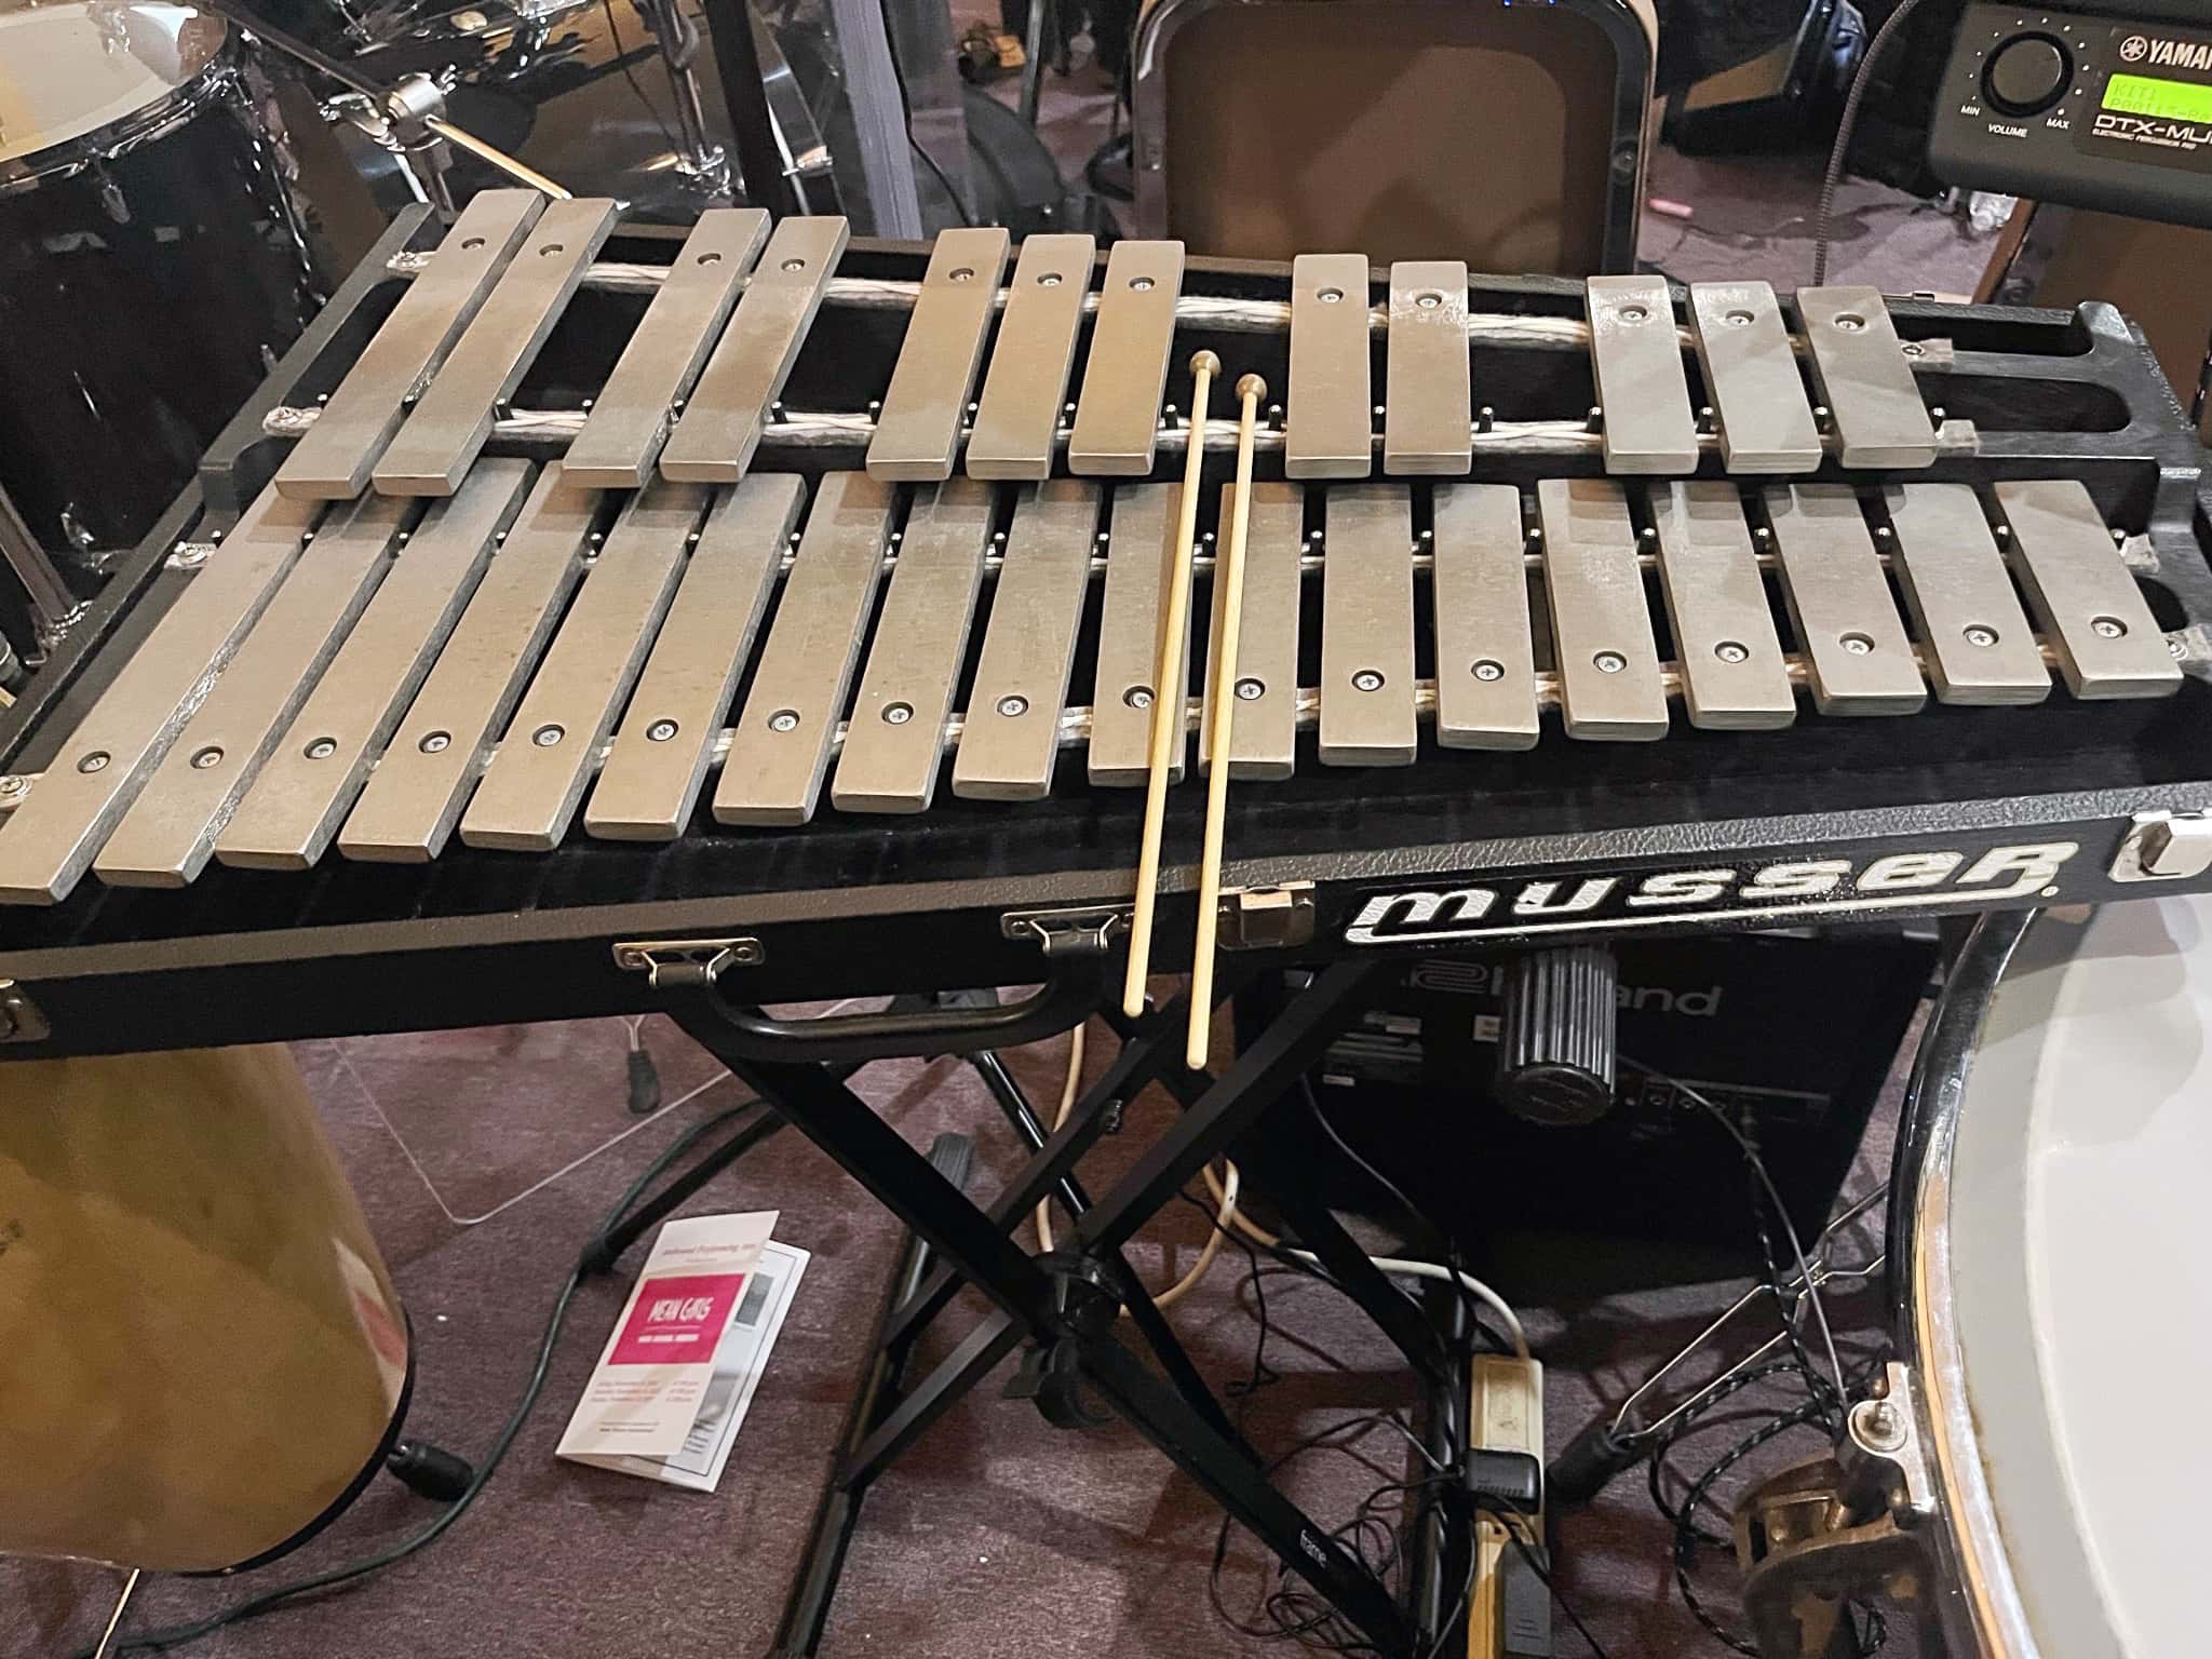
<svg viewBox="0 0 2212 1659"><path fill-rule="evenodd" d="M2212 226L2212 9L1971 7L1929 164L1953 186Z"/></svg>

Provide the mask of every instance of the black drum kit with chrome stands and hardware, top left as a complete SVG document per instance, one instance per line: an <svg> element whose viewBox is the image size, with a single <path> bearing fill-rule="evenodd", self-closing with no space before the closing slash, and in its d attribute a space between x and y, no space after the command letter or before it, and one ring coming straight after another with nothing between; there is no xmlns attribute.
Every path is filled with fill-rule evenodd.
<svg viewBox="0 0 2212 1659"><path fill-rule="evenodd" d="M564 195L447 119L447 100L469 82L544 82L575 44L560 27L586 11L591 0L316 0L312 15L221 0L0 4L0 557L13 575L0 582L0 688L69 633L113 555L153 529L343 274L319 239L305 135L285 117L299 106L281 106L279 80L301 60L334 77L307 108L389 150L409 192L447 217L451 148ZM675 88L670 170L710 206L728 199L730 168L690 69L699 31L672 0L648 11ZM761 18L754 46L781 173L810 208L836 212L807 93Z"/></svg>

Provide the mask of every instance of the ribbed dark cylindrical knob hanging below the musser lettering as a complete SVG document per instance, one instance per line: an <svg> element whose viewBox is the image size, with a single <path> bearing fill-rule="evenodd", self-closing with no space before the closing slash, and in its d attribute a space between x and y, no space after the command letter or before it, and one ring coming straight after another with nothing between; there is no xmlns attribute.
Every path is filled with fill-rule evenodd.
<svg viewBox="0 0 2212 1659"><path fill-rule="evenodd" d="M1590 1124L1613 1108L1619 973L1604 945L1531 951L1506 973L1498 1099L1531 1124Z"/></svg>

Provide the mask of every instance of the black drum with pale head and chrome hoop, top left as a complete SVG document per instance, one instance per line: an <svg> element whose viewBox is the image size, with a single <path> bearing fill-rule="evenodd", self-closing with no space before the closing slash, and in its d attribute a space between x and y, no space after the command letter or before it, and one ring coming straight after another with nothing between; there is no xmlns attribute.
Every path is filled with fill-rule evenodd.
<svg viewBox="0 0 2212 1659"><path fill-rule="evenodd" d="M0 487L84 591L321 305L288 166L221 18L0 11Z"/></svg>

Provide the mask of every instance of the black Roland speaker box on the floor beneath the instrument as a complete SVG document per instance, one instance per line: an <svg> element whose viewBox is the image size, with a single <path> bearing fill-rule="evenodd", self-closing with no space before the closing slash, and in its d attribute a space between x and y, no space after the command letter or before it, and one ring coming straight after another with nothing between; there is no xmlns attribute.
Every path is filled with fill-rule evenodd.
<svg viewBox="0 0 2212 1659"><path fill-rule="evenodd" d="M1851 1166L1936 964L1927 933L1708 933L1615 942L1613 1108L1588 1124L1528 1121L1498 1097L1513 953L1425 956L1314 1068L1329 1126L1471 1256L1502 1232L1604 1234L1723 1252L1754 1245L1743 1157L1683 1084L1747 1113L1761 1157L1809 1239ZM1287 987L1239 1002L1259 1029ZM1301 1113L1270 1135L1312 1135ZM1385 1201L1314 1137L1310 1177L1332 1199ZM1652 1281L1683 1261L1641 1252ZM1703 1259L1703 1256L1701 1256ZM1697 1272L1694 1267L1688 1272Z"/></svg>

